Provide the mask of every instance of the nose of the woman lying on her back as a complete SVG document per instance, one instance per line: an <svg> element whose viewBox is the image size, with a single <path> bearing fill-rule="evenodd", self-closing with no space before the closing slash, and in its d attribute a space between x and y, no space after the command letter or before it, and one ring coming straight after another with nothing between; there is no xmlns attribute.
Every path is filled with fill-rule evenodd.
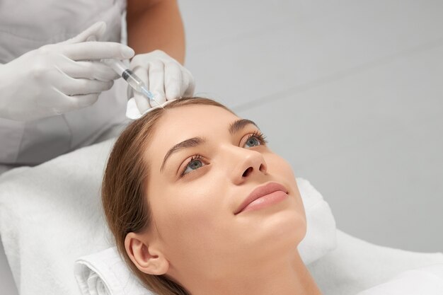
<svg viewBox="0 0 443 295"><path fill-rule="evenodd" d="M260 177L267 174L267 164L263 154L251 149L235 148L236 156L231 154L235 161L234 169L231 170L231 180L239 185L248 178Z"/></svg>

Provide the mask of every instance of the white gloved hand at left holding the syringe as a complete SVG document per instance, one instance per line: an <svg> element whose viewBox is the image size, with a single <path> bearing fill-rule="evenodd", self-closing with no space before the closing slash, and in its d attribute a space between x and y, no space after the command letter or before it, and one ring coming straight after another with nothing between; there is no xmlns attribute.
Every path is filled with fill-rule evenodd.
<svg viewBox="0 0 443 295"><path fill-rule="evenodd" d="M130 47L99 40L104 22L67 41L44 45L0 64L0 117L35 120L84 108L118 78L100 59L128 59Z"/></svg>

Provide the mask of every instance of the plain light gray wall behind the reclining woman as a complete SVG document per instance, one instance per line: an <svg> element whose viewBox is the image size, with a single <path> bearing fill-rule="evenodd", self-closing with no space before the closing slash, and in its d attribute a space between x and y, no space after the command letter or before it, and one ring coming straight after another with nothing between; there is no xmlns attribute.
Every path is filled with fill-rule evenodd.
<svg viewBox="0 0 443 295"><path fill-rule="evenodd" d="M197 94L365 241L443 251L443 1L182 0Z"/></svg>

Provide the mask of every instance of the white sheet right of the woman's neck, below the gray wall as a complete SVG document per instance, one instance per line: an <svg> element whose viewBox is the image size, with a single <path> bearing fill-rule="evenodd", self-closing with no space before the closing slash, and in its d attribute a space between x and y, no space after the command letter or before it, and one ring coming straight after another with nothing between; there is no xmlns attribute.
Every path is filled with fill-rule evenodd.
<svg viewBox="0 0 443 295"><path fill-rule="evenodd" d="M374 245L340 230L337 230L337 242L335 250L308 265L323 295L355 295L389 282L406 270L443 263L443 253L418 253Z"/></svg>

